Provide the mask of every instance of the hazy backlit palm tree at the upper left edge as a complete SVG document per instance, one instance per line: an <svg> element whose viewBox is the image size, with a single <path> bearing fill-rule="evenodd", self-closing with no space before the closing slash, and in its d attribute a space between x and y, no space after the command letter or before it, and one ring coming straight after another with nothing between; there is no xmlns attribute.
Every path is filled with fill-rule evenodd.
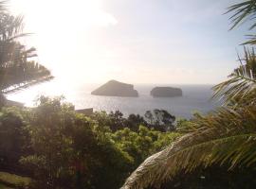
<svg viewBox="0 0 256 189"><path fill-rule="evenodd" d="M23 17L11 16L0 2L0 94L9 94L52 78L45 66L34 61L36 49L18 41L22 33Z"/></svg>

